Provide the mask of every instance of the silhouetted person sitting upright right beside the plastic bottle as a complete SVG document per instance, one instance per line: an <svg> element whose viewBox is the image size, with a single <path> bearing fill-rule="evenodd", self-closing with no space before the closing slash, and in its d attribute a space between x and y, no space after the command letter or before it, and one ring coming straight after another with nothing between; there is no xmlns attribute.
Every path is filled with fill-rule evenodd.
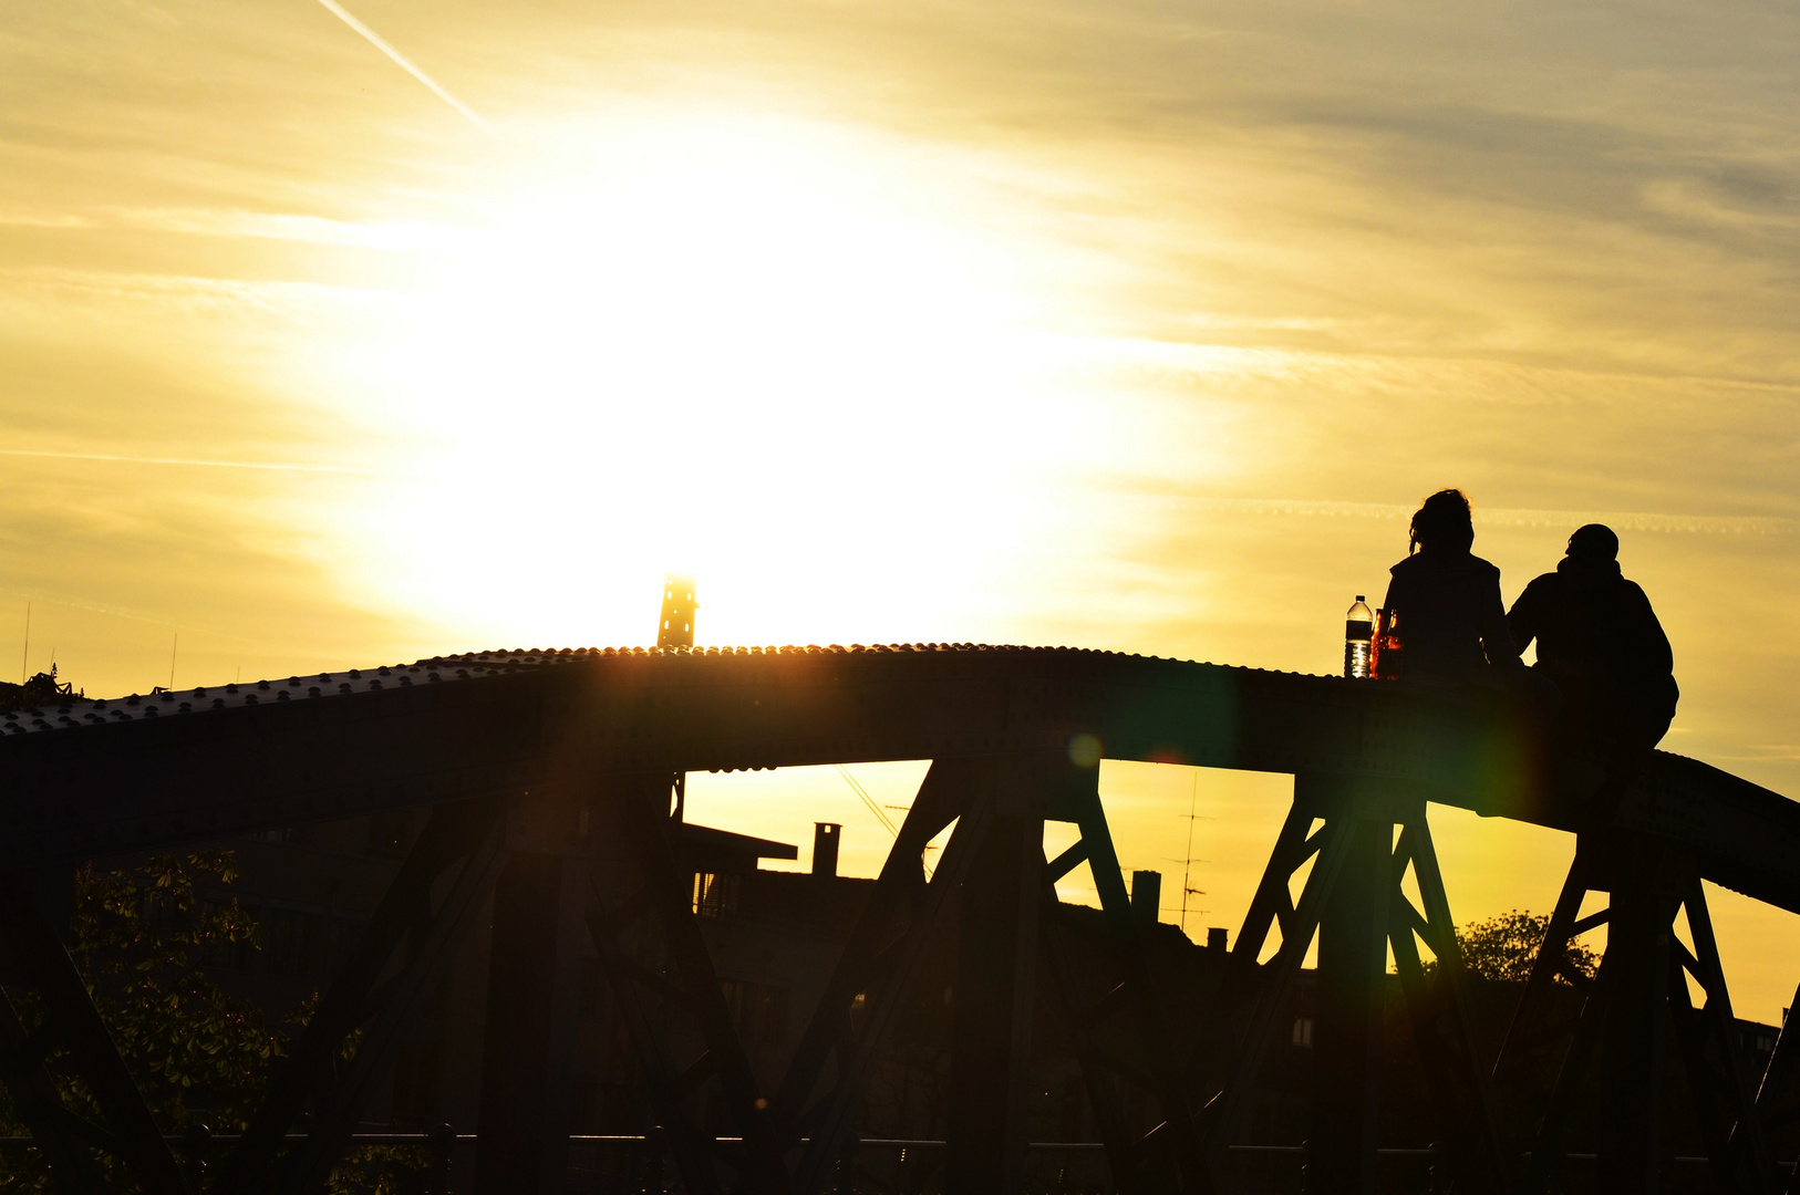
<svg viewBox="0 0 1800 1195"><path fill-rule="evenodd" d="M1525 673L1499 599L1499 569L1471 553L1472 545L1462 490L1436 491L1413 515L1406 560L1390 569L1384 603L1399 615L1408 678L1494 684L1514 677L1490 668Z"/></svg>

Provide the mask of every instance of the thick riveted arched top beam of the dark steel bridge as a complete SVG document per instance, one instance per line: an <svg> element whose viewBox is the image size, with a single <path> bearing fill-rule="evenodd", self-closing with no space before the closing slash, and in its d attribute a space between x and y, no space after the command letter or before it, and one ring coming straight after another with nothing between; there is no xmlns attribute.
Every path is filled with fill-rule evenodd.
<svg viewBox="0 0 1800 1195"><path fill-rule="evenodd" d="M0 866L558 776L1057 752L1076 734L1116 759L1368 776L1566 830L1597 783L1553 776L1507 700L1404 682L976 644L495 651L16 713ZM1800 909L1800 813L1777 794L1658 752L1616 821Z"/></svg>

